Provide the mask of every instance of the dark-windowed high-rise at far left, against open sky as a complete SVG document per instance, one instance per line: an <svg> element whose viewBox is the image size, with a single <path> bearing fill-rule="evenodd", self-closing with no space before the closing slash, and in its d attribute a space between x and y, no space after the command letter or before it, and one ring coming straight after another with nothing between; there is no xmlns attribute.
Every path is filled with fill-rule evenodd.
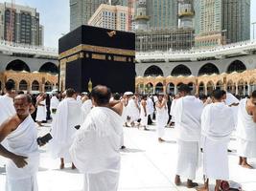
<svg viewBox="0 0 256 191"><path fill-rule="evenodd" d="M43 27L39 24L39 13L36 9L21 5L12 8L10 3L3 3L0 4L0 17L0 39L43 45Z"/></svg>

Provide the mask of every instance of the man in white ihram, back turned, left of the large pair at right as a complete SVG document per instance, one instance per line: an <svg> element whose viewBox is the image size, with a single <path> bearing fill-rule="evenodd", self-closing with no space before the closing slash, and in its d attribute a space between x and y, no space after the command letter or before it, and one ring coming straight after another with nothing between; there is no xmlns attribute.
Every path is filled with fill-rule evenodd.
<svg viewBox="0 0 256 191"><path fill-rule="evenodd" d="M198 167L200 117L203 109L202 102L196 96L190 96L188 85L179 86L179 99L175 103L175 128L177 131L177 169L175 184L180 185L180 177L187 179L187 187L198 186L196 179Z"/></svg>

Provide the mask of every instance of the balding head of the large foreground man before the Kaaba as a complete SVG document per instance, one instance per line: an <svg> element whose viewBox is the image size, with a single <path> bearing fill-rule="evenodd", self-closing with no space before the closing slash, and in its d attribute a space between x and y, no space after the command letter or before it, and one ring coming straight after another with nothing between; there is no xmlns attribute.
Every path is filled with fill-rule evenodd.
<svg viewBox="0 0 256 191"><path fill-rule="evenodd" d="M106 86L98 85L92 89L91 96L98 106L109 103L111 91Z"/></svg>

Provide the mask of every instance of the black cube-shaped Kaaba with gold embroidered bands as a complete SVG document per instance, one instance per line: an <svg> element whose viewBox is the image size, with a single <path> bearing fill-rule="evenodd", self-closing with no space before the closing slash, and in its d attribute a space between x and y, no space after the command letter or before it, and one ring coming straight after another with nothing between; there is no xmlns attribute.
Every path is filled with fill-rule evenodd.
<svg viewBox="0 0 256 191"><path fill-rule="evenodd" d="M58 40L59 88L135 90L135 34L82 25Z"/></svg>

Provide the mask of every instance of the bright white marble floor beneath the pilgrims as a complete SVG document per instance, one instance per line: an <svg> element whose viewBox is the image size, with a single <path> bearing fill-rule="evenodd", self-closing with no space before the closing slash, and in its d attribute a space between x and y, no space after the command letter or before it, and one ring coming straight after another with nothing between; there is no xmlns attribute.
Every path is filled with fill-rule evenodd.
<svg viewBox="0 0 256 191"><path fill-rule="evenodd" d="M194 190L185 186L176 187L175 130L166 128L166 142L158 143L154 126L151 131L125 128L127 149L121 152L122 167L119 183L120 191L176 191ZM40 129L39 135L49 131L49 127ZM230 180L243 185L246 191L256 190L256 170L247 170L237 164L236 140L231 138L229 148ZM41 160L38 172L39 191L81 191L82 175L71 170L70 164L59 170L59 161L49 157L47 146L40 149ZM256 168L256 159L250 162ZM202 170L198 169L197 181L202 183ZM0 159L0 191L5 190L5 170L3 159Z"/></svg>

